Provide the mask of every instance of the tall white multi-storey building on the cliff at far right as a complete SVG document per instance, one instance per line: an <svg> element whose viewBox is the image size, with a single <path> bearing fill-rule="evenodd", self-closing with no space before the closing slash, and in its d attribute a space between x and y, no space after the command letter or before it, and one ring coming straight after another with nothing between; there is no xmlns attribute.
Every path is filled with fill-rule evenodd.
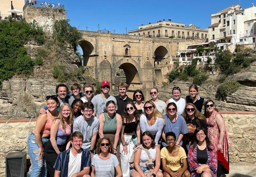
<svg viewBox="0 0 256 177"><path fill-rule="evenodd" d="M216 42L220 49L234 52L236 44L255 48L256 7L242 9L236 4L212 14L208 33L209 42Z"/></svg>

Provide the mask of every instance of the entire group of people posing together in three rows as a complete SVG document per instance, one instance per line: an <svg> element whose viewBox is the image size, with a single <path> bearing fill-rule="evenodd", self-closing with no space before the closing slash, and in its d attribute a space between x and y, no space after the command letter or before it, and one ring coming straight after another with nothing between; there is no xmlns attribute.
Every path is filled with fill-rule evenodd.
<svg viewBox="0 0 256 177"><path fill-rule="evenodd" d="M132 99L128 85L119 95L79 84L56 87L46 97L28 137L31 177L219 177L229 172L230 140L223 117L212 100L198 95L196 85L181 98L179 87L166 102L150 89ZM204 108L204 114L202 110Z"/></svg>

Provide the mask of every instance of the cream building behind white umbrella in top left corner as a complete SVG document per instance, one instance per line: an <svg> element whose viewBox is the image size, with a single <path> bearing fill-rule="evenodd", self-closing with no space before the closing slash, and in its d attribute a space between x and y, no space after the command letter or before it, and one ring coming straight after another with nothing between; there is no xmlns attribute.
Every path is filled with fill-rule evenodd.
<svg viewBox="0 0 256 177"><path fill-rule="evenodd" d="M24 0L1 0L0 5L0 18L4 19L4 17L8 17L9 15L14 15L11 12L7 12L12 9L18 9L23 11L23 6L25 5Z"/></svg>

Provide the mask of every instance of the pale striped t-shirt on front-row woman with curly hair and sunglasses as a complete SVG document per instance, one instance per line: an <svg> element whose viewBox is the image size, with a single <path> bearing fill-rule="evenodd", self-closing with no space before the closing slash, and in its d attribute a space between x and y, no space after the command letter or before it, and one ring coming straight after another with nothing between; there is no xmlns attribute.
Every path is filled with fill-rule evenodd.
<svg viewBox="0 0 256 177"><path fill-rule="evenodd" d="M111 154L110 158L103 160L98 154L92 159L92 165L95 167L96 177L114 177L115 167L119 165L116 155Z"/></svg>

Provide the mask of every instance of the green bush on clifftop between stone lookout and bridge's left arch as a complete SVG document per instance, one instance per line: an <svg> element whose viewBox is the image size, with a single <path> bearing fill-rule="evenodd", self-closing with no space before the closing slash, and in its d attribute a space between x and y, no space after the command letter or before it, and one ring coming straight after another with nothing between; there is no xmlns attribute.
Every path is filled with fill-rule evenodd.
<svg viewBox="0 0 256 177"><path fill-rule="evenodd" d="M64 46L67 42L76 49L82 34L69 24L69 20L56 20L53 26L53 38L59 46Z"/></svg>

